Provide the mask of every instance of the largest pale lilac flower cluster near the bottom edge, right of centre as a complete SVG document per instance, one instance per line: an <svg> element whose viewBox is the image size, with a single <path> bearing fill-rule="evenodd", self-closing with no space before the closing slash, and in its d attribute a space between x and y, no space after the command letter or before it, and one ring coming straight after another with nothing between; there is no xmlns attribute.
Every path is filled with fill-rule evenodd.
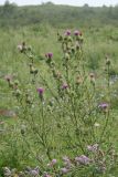
<svg viewBox="0 0 118 177"><path fill-rule="evenodd" d="M92 159L86 157L85 155L82 155L79 157L75 157L75 162L81 165L88 165L92 162Z"/></svg>

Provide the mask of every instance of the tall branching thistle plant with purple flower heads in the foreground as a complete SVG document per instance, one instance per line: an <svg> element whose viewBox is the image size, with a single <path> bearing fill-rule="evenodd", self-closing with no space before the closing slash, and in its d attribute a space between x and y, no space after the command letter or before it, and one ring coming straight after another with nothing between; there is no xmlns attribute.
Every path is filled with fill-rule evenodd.
<svg viewBox="0 0 118 177"><path fill-rule="evenodd" d="M52 52L39 56L25 42L18 46L28 59L31 77L25 83L12 81L10 87L20 107L20 124L24 125L23 144L37 160L41 176L106 174L111 168L110 156L116 160L110 137L110 61L106 59L107 82L101 97L96 73L86 70L83 33L67 30L63 35L57 33L57 40L63 54L60 66ZM37 59L49 77L36 65ZM11 80L7 81L10 86Z"/></svg>

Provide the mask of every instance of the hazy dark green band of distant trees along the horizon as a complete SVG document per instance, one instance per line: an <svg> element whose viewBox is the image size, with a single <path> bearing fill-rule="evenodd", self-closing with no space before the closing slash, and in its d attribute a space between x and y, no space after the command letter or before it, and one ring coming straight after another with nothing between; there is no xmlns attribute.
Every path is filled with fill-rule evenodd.
<svg viewBox="0 0 118 177"><path fill-rule="evenodd" d="M93 8L56 6L51 2L41 6L18 7L14 3L0 6L0 28L47 23L56 28L118 25L118 6Z"/></svg>

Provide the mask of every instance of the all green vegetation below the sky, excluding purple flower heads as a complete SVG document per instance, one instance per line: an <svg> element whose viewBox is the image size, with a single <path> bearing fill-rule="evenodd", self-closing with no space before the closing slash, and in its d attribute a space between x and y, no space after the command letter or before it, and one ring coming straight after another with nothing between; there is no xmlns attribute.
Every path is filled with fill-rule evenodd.
<svg viewBox="0 0 118 177"><path fill-rule="evenodd" d="M8 12L0 7L4 27L0 29L0 174L6 166L18 171L40 166L40 176L44 170L61 175L66 155L72 165L67 177L117 177L117 7L10 6ZM73 32L67 39L61 35L66 32L63 28L75 31L77 23L84 42L78 43L78 52ZM53 52L52 61L46 52ZM68 86L64 92L63 84ZM39 87L44 88L44 97L39 96ZM104 102L108 112L98 108ZM17 117L6 115L9 111ZM87 145L97 143L96 154L87 150ZM75 157L82 154L95 162L77 166ZM57 158L54 169L46 165L53 158ZM105 174L101 167L107 167Z"/></svg>

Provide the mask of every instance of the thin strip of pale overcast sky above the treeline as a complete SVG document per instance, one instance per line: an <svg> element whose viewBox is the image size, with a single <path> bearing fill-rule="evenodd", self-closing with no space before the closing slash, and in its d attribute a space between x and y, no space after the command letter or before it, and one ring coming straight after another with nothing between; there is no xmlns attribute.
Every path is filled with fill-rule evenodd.
<svg viewBox="0 0 118 177"><path fill-rule="evenodd" d="M0 4L3 4L6 0L0 0ZM118 0L9 0L10 2L15 2L19 6L23 4L41 4L42 2L52 1L55 4L72 4L72 6L83 6L88 3L89 6L115 6L118 4Z"/></svg>

